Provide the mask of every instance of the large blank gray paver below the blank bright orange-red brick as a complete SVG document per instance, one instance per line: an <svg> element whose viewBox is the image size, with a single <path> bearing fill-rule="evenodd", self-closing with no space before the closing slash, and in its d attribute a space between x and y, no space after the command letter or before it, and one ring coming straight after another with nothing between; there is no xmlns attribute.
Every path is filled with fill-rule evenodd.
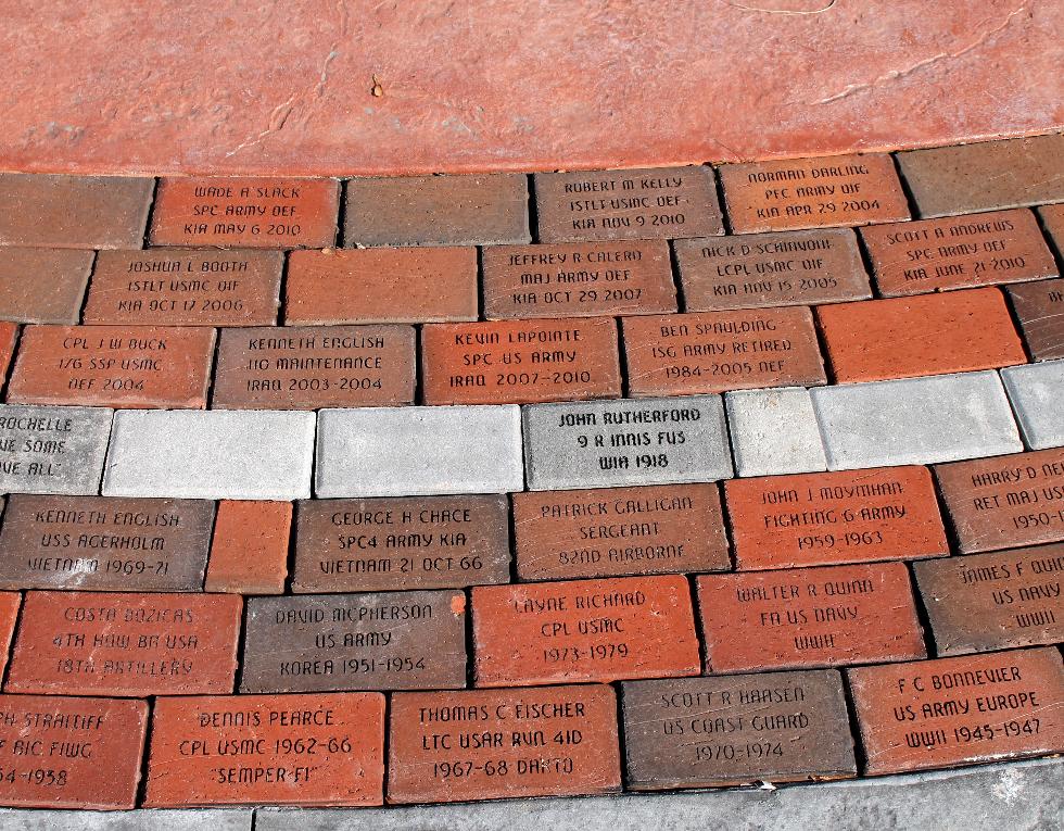
<svg viewBox="0 0 1064 831"><path fill-rule="evenodd" d="M828 470L928 465L1023 450L995 372L810 390Z"/></svg>

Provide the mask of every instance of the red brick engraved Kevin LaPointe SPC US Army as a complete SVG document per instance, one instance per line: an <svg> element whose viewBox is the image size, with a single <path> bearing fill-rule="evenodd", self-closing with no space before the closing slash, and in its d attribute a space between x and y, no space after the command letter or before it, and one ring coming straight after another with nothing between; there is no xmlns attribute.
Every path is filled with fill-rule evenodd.
<svg viewBox="0 0 1064 831"><path fill-rule="evenodd" d="M506 404L621 394L611 317L429 324L426 404Z"/></svg>

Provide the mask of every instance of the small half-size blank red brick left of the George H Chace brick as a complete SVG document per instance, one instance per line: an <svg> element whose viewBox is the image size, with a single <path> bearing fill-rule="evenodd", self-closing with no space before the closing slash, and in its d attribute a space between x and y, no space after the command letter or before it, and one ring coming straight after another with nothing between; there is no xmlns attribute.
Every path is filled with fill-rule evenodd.
<svg viewBox="0 0 1064 831"><path fill-rule="evenodd" d="M291 502L221 500L204 589L229 594L283 594Z"/></svg>

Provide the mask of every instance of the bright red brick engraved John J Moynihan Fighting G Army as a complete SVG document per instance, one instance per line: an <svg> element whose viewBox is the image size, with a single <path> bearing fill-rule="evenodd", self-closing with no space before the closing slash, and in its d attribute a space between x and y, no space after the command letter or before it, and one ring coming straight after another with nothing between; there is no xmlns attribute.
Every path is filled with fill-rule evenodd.
<svg viewBox="0 0 1064 831"><path fill-rule="evenodd" d="M733 479L724 494L739 569L949 553L924 467Z"/></svg>

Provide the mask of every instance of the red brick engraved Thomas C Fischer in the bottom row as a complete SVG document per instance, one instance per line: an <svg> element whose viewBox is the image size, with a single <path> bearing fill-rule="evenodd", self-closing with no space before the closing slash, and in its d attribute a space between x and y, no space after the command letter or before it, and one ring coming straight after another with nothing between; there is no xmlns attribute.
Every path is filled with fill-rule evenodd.
<svg viewBox="0 0 1064 831"><path fill-rule="evenodd" d="M389 803L620 790L617 696L609 687L392 696Z"/></svg>

